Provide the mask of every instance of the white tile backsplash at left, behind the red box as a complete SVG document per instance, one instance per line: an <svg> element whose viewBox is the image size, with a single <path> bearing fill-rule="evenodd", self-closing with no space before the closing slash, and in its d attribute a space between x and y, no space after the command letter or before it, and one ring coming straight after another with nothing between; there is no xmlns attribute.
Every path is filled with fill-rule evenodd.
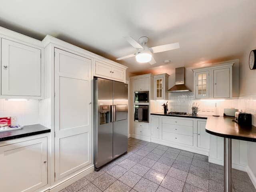
<svg viewBox="0 0 256 192"><path fill-rule="evenodd" d="M0 99L0 117L12 117L12 125L31 125L39 122L39 101L8 101Z"/></svg>

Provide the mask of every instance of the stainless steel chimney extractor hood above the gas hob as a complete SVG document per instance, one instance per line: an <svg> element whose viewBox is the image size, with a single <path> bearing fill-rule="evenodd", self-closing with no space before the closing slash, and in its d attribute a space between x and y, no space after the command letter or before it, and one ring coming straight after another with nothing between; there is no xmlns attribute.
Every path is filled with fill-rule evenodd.
<svg viewBox="0 0 256 192"><path fill-rule="evenodd" d="M185 68L175 68L175 85L168 92L191 92L185 85Z"/></svg>

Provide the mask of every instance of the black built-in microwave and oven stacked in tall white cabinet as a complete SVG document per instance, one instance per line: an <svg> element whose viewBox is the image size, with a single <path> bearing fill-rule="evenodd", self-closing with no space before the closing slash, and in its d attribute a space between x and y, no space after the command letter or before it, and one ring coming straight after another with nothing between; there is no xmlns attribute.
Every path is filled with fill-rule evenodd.
<svg viewBox="0 0 256 192"><path fill-rule="evenodd" d="M140 104L141 103L141 104ZM147 104L142 104L147 103ZM134 121L149 122L149 92L134 92Z"/></svg>

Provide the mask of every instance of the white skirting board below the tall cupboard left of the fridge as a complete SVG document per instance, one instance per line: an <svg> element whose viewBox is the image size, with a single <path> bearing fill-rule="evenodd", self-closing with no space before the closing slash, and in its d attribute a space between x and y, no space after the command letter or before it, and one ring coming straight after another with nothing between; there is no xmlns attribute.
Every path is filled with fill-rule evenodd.
<svg viewBox="0 0 256 192"><path fill-rule="evenodd" d="M75 176L72 176L71 178L68 178L67 180L65 180L63 182L56 184L55 186L53 186L52 189L49 190L49 192L59 192L60 190L66 188L70 184L76 182L80 178L90 174L93 171L94 171L94 165L92 165L89 168L87 168L86 170L83 170L82 172L76 174Z"/></svg>

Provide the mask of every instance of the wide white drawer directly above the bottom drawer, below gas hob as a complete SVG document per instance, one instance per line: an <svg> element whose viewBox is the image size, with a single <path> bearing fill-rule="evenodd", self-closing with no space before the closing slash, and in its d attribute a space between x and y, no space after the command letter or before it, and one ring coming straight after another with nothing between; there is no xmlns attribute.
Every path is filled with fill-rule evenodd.
<svg viewBox="0 0 256 192"><path fill-rule="evenodd" d="M162 124L163 132L175 133L193 136L193 127L182 126L182 125L173 125L173 124Z"/></svg>

